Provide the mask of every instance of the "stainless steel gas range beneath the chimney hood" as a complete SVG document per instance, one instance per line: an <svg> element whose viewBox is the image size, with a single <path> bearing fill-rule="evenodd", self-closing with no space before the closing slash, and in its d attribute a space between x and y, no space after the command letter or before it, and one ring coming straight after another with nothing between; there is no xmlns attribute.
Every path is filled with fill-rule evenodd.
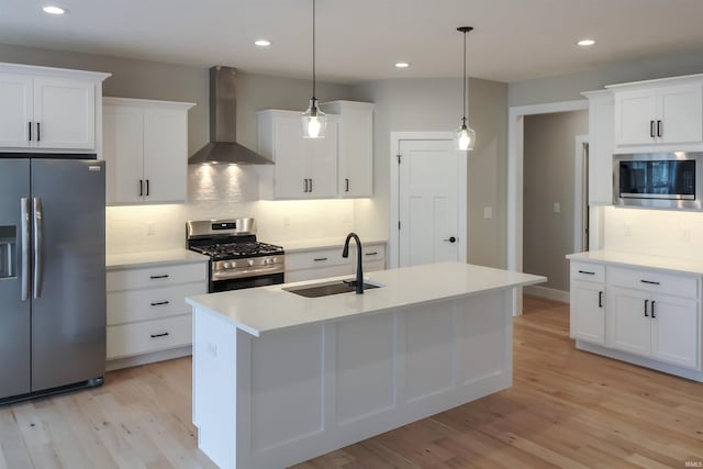
<svg viewBox="0 0 703 469"><path fill-rule="evenodd" d="M254 219L188 222L186 245L210 257L210 293L283 282L286 253L256 241Z"/></svg>

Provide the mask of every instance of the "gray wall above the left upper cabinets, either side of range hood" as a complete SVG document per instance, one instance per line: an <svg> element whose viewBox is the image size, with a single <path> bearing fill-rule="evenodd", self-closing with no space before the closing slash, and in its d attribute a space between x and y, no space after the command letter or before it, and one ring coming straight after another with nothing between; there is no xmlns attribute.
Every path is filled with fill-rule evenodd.
<svg viewBox="0 0 703 469"><path fill-rule="evenodd" d="M194 102L197 105L188 113L189 155L201 148L210 138L208 68L8 44L0 44L0 62L107 71L112 76L103 83L104 96ZM236 64L223 65L236 67ZM302 112L308 107L311 93L310 80L239 72L236 90L237 139L243 145L256 149L256 111L275 108ZM321 101L350 99L352 88L344 85L317 83L317 98Z"/></svg>

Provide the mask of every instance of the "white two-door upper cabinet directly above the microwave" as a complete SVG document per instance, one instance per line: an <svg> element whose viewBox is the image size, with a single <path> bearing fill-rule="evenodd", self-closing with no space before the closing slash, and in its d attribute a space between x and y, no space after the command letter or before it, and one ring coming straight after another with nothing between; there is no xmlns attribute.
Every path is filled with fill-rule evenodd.
<svg viewBox="0 0 703 469"><path fill-rule="evenodd" d="M703 76L607 87L615 100L615 149L703 144ZM637 148L637 150L639 150Z"/></svg>

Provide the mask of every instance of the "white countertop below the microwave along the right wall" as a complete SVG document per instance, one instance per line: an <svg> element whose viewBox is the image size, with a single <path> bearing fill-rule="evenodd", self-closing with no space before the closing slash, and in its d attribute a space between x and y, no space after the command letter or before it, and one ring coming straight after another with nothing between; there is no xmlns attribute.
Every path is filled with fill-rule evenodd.
<svg viewBox="0 0 703 469"><path fill-rule="evenodd" d="M647 254L622 253L618 250L589 250L567 255L570 260L598 261L618 266L646 267L651 269L669 270L703 275L703 261L682 259L678 257L650 256Z"/></svg>

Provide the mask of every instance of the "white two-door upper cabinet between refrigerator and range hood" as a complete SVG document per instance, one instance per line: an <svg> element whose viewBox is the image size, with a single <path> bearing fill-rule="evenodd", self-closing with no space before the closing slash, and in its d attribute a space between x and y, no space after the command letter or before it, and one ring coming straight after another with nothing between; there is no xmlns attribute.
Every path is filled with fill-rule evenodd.
<svg viewBox="0 0 703 469"><path fill-rule="evenodd" d="M189 102L103 99L107 203L183 202Z"/></svg>

